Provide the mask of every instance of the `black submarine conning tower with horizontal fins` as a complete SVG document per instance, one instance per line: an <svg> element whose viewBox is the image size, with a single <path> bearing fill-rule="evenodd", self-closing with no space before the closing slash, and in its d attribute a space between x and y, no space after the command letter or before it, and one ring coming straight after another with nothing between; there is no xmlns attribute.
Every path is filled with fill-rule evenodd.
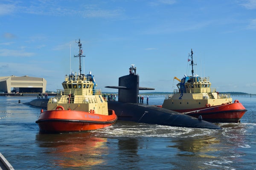
<svg viewBox="0 0 256 170"><path fill-rule="evenodd" d="M118 102L137 103L139 90L154 90L154 88L139 87L140 78L133 64L129 68L129 73L129 75L119 77L118 86L106 86L105 88L118 89Z"/></svg>

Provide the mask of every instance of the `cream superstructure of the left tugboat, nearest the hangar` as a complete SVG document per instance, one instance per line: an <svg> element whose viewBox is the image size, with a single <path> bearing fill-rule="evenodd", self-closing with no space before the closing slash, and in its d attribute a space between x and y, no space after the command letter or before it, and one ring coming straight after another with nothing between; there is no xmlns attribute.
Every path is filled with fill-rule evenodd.
<svg viewBox="0 0 256 170"><path fill-rule="evenodd" d="M108 115L108 103L99 90L95 90L91 75L71 75L62 83L64 90L58 90L56 97L50 98L47 110L54 110L58 105L65 110L92 112Z"/></svg>

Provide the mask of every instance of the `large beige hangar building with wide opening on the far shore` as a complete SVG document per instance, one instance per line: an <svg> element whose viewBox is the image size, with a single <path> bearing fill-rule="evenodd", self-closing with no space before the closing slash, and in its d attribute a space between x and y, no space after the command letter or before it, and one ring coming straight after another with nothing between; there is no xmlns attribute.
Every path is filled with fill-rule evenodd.
<svg viewBox="0 0 256 170"><path fill-rule="evenodd" d="M0 77L0 91L11 93L45 93L47 81L39 77Z"/></svg>

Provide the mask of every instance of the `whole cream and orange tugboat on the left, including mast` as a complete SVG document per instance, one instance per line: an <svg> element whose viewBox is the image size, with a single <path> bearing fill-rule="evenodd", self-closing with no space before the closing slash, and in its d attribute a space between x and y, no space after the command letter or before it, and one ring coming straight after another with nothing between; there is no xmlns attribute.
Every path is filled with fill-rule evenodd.
<svg viewBox="0 0 256 170"><path fill-rule="evenodd" d="M82 44L79 42L79 74L66 75L57 96L49 99L47 111L41 110L36 123L42 133L65 133L96 130L113 125L117 116L108 110L108 103L96 90L91 72L81 74Z"/></svg>

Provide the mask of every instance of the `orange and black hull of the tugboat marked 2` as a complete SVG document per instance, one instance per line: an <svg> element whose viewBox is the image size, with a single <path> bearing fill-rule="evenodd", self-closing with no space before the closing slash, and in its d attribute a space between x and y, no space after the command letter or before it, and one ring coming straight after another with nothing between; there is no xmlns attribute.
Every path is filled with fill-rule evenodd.
<svg viewBox="0 0 256 170"><path fill-rule="evenodd" d="M198 118L198 116L201 115L203 120L208 122L238 123L247 110L241 103L238 102L204 108L174 111L185 113L195 118Z"/></svg>

